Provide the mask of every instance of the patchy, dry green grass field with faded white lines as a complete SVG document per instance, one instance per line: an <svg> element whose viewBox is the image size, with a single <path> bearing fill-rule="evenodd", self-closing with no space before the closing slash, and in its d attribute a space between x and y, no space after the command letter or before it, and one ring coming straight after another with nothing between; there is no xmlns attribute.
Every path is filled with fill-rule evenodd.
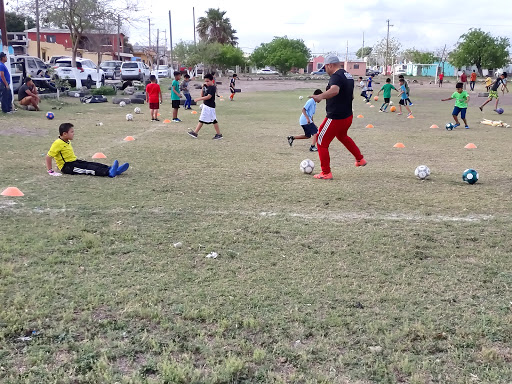
<svg viewBox="0 0 512 384"><path fill-rule="evenodd" d="M471 129L446 131L451 87L413 87L415 119L356 97L368 165L333 142L334 180L315 180L309 141L286 136L324 85L218 102L220 141L189 137L184 110L127 122L133 106L66 98L52 121L0 116L0 190L25 193L0 199L0 382L510 383L512 129L480 125L473 98ZM126 174L48 176L68 121L79 158Z"/></svg>

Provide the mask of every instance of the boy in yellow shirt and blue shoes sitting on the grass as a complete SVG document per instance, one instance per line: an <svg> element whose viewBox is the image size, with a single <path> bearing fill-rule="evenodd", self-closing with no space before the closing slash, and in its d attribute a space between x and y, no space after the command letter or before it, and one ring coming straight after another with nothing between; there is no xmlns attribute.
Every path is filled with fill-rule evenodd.
<svg viewBox="0 0 512 384"><path fill-rule="evenodd" d="M51 176L60 176L61 173L52 169L52 160L55 159L57 167L62 173L68 175L92 175L116 177L126 171L130 166L128 163L119 165L114 160L112 166L92 161L78 160L71 146L71 140L75 136L75 129L71 123L63 123L59 126L59 138L55 140L46 155L46 169Z"/></svg>

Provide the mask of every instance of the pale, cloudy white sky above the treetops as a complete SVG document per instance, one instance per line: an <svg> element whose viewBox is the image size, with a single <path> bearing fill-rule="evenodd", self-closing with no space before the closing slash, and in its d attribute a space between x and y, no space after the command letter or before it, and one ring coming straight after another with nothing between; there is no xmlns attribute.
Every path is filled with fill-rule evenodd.
<svg viewBox="0 0 512 384"><path fill-rule="evenodd" d="M460 5L445 0L407 0L401 2L382 0L362 1L269 1L252 2L234 0L144 0L138 13L141 21L128 27L130 42L148 44L148 18L151 18L152 44L156 42L157 29L160 41L169 44L169 10L171 11L173 44L180 40L193 41L193 14L196 20L208 8L226 11L226 17L237 31L239 47L251 53L261 43L274 36L302 39L316 54L338 52L355 57L363 45L373 46L386 37L387 20L390 20L390 37L400 41L402 48L437 51L447 46L455 47L460 35L469 28L481 28L494 36L512 38L512 7L496 3L489 7L485 1L466 0ZM166 31L165 33L163 31Z"/></svg>

